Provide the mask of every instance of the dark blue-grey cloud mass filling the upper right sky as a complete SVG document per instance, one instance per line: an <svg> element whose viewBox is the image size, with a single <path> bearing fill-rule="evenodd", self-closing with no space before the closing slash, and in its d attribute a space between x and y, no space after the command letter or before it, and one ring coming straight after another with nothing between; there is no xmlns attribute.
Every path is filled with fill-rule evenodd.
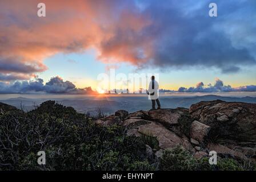
<svg viewBox="0 0 256 182"><path fill-rule="evenodd" d="M247 19L246 12L239 14L245 8L255 11L256 6L251 7L253 2L215 1L219 12L217 18L210 18L208 15L210 1L197 1L197 9L193 9L194 1L179 1L181 6L177 6L174 1L169 1L169 6L158 1L152 2L148 11L153 22L158 22L152 24L151 29L155 31L150 34L155 36L155 65L176 68L202 65L219 68L222 73L238 72L239 67L244 64L255 65L255 57L251 51L253 44L250 42L255 45L256 34L247 42L243 41L243 46L234 44L241 28L252 30L251 24L255 25L253 19ZM237 19L234 11L248 24L243 24L244 27L240 27L239 23L232 24ZM233 13L234 16L231 16ZM229 30L223 28L226 24L237 31L230 34Z"/></svg>

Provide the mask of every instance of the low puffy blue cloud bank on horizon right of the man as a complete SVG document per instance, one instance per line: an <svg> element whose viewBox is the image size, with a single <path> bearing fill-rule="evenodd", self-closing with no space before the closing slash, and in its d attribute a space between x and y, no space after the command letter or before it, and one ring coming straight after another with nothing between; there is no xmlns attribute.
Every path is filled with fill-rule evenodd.
<svg viewBox="0 0 256 182"><path fill-rule="evenodd" d="M233 88L230 85L224 85L222 80L216 78L213 86L211 84L205 86L203 82L199 82L195 87L180 87L178 92L256 92L256 85Z"/></svg>

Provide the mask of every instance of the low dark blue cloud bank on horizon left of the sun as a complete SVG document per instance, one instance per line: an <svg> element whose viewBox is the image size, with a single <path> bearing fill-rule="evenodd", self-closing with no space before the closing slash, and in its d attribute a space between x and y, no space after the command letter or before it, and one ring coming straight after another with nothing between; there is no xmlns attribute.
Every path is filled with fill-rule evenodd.
<svg viewBox="0 0 256 182"><path fill-rule="evenodd" d="M87 94L95 93L90 87L76 88L70 81L63 81L61 77L52 77L50 81L43 84L41 78L35 77L30 81L15 81L13 83L0 82L0 93L67 93Z"/></svg>

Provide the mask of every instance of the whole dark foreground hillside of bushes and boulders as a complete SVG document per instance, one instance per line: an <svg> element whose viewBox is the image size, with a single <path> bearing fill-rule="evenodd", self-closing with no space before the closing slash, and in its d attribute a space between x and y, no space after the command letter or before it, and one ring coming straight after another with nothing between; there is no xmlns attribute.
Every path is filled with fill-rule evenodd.
<svg viewBox="0 0 256 182"><path fill-rule="evenodd" d="M0 110L0 170L255 170L256 104L202 101L107 117L55 101ZM213 150L217 165L208 162Z"/></svg>

